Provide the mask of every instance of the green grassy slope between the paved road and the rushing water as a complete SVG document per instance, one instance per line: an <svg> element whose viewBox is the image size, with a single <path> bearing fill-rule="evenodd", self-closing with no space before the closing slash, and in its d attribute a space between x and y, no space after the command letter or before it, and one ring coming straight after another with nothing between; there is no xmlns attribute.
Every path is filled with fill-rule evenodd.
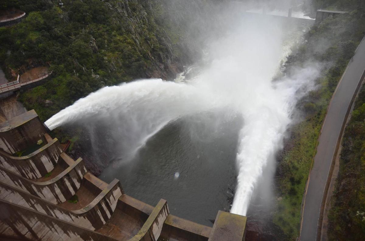
<svg viewBox="0 0 365 241"><path fill-rule="evenodd" d="M304 120L291 127L284 150L278 154L278 201L273 222L288 240L295 240L299 234L301 202L328 103L364 33L365 19L360 12L327 19L312 27L308 42L299 48L295 61L288 64L289 69L308 59L323 64L323 75L316 80L318 89L298 103Z"/></svg>

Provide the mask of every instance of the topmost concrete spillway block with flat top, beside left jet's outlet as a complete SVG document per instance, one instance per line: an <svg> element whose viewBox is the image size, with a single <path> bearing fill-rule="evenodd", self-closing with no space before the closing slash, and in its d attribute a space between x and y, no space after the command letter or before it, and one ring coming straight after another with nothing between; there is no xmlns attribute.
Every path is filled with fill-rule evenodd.
<svg viewBox="0 0 365 241"><path fill-rule="evenodd" d="M37 143L46 133L37 113L30 110L0 124L0 148L14 154Z"/></svg>

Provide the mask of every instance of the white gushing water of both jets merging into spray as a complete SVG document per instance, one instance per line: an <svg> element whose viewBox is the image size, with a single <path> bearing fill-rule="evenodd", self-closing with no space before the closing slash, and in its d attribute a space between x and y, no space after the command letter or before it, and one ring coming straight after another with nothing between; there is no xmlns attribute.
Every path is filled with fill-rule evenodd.
<svg viewBox="0 0 365 241"><path fill-rule="evenodd" d="M104 87L75 102L46 121L49 129L65 124L113 129L122 162L128 162L168 123L201 113L242 117L236 154L237 187L232 213L246 215L263 169L275 162L296 101L314 88L318 70L299 68L293 75L272 81L280 65L300 39L283 23L270 18L242 17L224 36L211 40L206 64L199 74L178 82L138 80ZM217 118L219 119L219 118ZM212 119L204 121L212 122ZM216 120L218 121L218 120ZM235 137L237 138L237 136ZM271 165L274 166L274 165ZM156 187L158 188L158 187Z"/></svg>

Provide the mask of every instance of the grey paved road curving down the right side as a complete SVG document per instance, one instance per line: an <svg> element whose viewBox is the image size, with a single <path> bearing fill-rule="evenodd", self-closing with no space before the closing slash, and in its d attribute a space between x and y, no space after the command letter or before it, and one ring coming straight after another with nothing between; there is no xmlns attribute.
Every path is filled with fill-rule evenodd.
<svg viewBox="0 0 365 241"><path fill-rule="evenodd" d="M333 95L319 137L317 153L308 181L304 202L301 241L315 241L320 208L337 140L361 76L365 70L365 41L358 47Z"/></svg>

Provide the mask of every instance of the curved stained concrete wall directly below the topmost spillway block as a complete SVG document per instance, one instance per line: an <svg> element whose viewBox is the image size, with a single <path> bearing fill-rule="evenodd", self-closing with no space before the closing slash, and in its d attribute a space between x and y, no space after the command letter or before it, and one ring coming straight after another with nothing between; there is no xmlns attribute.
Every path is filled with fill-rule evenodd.
<svg viewBox="0 0 365 241"><path fill-rule="evenodd" d="M49 139L49 135L45 135ZM42 146L33 153L24 157L13 157L0 150L0 166L29 179L41 178L57 165L59 155L62 153L58 139Z"/></svg>

